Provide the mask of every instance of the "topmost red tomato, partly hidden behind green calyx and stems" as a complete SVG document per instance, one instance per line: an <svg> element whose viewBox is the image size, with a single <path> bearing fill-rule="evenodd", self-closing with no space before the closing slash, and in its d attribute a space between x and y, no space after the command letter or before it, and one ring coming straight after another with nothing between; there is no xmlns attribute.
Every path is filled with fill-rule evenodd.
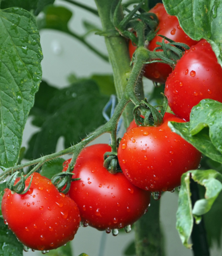
<svg viewBox="0 0 222 256"><path fill-rule="evenodd" d="M185 43L188 46L192 46L197 43L197 41L192 40L189 36L184 33L182 28L179 26L179 21L176 16L168 15L163 4L156 4L154 8L150 9L157 15L159 23L157 32L158 35L167 36L167 38L172 39L175 42ZM154 51L155 47L158 47L157 42L162 42L163 38L160 36L155 36L148 44L147 49ZM132 58L134 51L136 51L136 46L134 46L131 41L129 43L130 57ZM165 83L167 76L172 72L170 65L163 63L152 63L145 66L144 76L153 80L157 83Z"/></svg>

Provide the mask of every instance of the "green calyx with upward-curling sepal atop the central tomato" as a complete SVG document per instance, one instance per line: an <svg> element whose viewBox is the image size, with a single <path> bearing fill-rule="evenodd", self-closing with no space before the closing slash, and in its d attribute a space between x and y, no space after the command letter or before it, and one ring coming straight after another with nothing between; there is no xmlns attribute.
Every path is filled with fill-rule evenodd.
<svg viewBox="0 0 222 256"><path fill-rule="evenodd" d="M141 101L139 105L136 105L133 109L134 120L138 126L160 126L163 123L163 116L167 111L167 97L162 94L163 105L152 106L147 99ZM158 111L157 107L161 110Z"/></svg>

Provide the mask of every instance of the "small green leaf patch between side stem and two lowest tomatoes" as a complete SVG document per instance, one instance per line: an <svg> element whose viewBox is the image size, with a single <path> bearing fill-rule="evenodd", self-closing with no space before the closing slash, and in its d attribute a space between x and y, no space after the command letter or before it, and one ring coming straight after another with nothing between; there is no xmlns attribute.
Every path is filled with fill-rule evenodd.
<svg viewBox="0 0 222 256"><path fill-rule="evenodd" d="M45 162L41 169L41 175L51 179L56 173L60 173L62 171L62 163L64 163L64 161L64 159L57 158L51 160L50 162Z"/></svg>

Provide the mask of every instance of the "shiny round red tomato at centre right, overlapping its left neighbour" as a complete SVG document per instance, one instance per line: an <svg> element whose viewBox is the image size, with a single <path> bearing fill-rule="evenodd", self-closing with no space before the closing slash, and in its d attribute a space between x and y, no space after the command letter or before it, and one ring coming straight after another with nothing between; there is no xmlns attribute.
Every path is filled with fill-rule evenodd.
<svg viewBox="0 0 222 256"><path fill-rule="evenodd" d="M165 113L160 126L137 126L128 130L118 147L121 170L135 186L147 191L171 191L181 175L194 170L201 154L168 127L168 121L184 122Z"/></svg>

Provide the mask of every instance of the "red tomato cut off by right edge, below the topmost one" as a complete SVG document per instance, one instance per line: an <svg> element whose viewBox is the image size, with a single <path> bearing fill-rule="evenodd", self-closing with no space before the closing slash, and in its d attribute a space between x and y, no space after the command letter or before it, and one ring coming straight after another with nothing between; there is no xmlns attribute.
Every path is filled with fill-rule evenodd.
<svg viewBox="0 0 222 256"><path fill-rule="evenodd" d="M221 80L222 68L212 47L203 39L185 52L167 78L165 95L171 110L189 121L192 107L202 99L222 102Z"/></svg>

